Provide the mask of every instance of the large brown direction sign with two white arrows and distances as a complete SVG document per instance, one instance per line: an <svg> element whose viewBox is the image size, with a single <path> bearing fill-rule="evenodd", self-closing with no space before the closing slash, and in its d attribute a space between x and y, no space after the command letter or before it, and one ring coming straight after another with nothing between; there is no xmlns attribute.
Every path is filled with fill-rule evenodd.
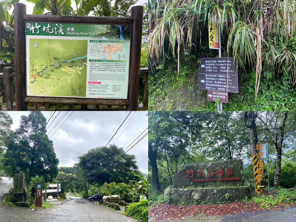
<svg viewBox="0 0 296 222"><path fill-rule="evenodd" d="M200 58L200 89L238 91L237 65L233 57Z"/></svg>

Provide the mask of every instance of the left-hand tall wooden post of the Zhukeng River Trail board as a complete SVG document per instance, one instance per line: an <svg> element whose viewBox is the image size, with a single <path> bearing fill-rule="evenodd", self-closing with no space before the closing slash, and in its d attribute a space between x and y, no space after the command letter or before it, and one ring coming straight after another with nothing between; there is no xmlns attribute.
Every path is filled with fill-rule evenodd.
<svg viewBox="0 0 296 222"><path fill-rule="evenodd" d="M15 12L15 101L17 111L27 111L26 96L26 42L25 20L26 5L14 4Z"/></svg>

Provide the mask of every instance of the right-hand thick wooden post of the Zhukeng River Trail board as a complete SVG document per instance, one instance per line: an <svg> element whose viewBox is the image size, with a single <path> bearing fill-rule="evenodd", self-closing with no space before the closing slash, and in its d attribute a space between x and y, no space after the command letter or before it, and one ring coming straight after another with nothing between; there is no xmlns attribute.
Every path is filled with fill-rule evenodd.
<svg viewBox="0 0 296 222"><path fill-rule="evenodd" d="M141 41L142 41L142 26L143 26L143 6L134 6L131 8L131 17L134 17L132 24L131 37L131 59L130 59L130 76L128 85L128 101L126 111L139 110L138 95L139 95L139 79L140 79L140 60L141 60Z"/></svg>

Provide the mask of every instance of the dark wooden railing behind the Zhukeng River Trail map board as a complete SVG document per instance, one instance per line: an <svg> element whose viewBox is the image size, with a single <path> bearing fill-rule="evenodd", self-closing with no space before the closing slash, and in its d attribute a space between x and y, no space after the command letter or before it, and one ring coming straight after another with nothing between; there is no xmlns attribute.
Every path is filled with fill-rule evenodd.
<svg viewBox="0 0 296 222"><path fill-rule="evenodd" d="M4 97L6 107L1 108L3 111L15 110L15 87L13 82L15 74L12 67L3 68L0 73L0 94ZM148 110L148 68L140 68L140 81L144 79L144 98L143 104L139 104L139 110ZM2 104L1 104L2 106ZM59 104L59 103L29 103L28 110L59 110L59 111L120 111L125 110L124 106L107 106L107 105L91 105L91 104Z"/></svg>

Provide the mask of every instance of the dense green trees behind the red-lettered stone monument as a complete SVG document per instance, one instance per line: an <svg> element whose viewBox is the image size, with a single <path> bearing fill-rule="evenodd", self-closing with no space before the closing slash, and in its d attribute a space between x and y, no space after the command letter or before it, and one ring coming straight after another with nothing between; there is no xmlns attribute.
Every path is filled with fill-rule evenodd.
<svg viewBox="0 0 296 222"><path fill-rule="evenodd" d="M275 186L295 167L295 112L258 112L258 143L268 143ZM253 167L249 129L244 112L149 112L149 181L153 191L172 184L173 176L186 162L242 159L246 183L252 184ZM250 164L250 166L248 166ZM267 165L266 165L267 166ZM273 168L274 167L274 168ZM267 171L267 169L266 169ZM294 177L290 175L291 181ZM165 179L163 179L165 178ZM286 187L294 182L286 183ZM293 186L295 186L294 184Z"/></svg>

